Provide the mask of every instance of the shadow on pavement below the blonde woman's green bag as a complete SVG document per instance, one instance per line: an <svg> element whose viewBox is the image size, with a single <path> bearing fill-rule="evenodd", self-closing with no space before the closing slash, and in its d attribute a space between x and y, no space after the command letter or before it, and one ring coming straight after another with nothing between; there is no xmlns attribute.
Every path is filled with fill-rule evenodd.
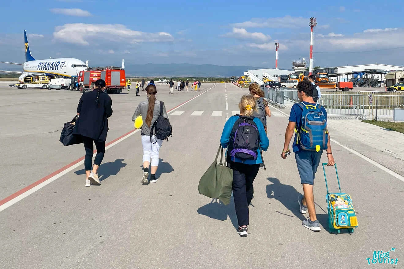
<svg viewBox="0 0 404 269"><path fill-rule="evenodd" d="M212 199L210 203L198 208L197 212L200 215L205 215L211 219L217 219L219 221L225 221L227 216L229 216L234 228L238 229L238 220L236 216L236 209L234 208L233 197L230 199L230 203L227 206L218 199Z"/></svg>

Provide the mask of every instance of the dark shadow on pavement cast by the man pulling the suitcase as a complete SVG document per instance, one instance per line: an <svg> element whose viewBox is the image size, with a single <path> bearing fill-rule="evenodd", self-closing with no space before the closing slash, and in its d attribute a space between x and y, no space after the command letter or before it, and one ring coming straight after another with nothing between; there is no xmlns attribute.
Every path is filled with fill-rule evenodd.
<svg viewBox="0 0 404 269"><path fill-rule="evenodd" d="M280 183L279 179L275 177L268 177L267 179L273 183L267 185L267 197L269 199L278 200L286 207L286 209L289 210L289 212L284 213L279 211L276 212L293 218L297 217L301 221L304 221L306 219L305 215L300 213L299 204L297 202L297 197L300 193L295 189L295 187L282 184ZM293 213L294 216L290 215L290 213Z"/></svg>

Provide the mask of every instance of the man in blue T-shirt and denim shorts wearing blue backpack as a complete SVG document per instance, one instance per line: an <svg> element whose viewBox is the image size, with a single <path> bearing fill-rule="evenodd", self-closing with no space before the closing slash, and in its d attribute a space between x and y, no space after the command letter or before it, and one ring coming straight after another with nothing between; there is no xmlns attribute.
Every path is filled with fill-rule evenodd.
<svg viewBox="0 0 404 269"><path fill-rule="evenodd" d="M314 102L313 90L313 85L307 80L297 84L297 96L301 102L294 104L290 111L282 158L286 159L290 155L289 143L295 132L293 152L295 152L304 194L304 196L299 195L297 202L302 214L309 211L309 219L304 220L302 225L312 231L320 231L320 223L314 207L314 178L323 151L327 152L328 166L334 165L334 157L331 151L330 133L327 129L327 112L323 106Z"/></svg>

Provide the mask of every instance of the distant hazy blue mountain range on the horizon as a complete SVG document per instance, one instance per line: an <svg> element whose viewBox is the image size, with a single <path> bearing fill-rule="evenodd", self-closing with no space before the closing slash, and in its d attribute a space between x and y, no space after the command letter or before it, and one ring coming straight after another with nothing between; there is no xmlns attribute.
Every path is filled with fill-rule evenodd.
<svg viewBox="0 0 404 269"><path fill-rule="evenodd" d="M130 65L125 63L126 76L136 77L239 77L244 75L244 71L253 69L263 69L263 67L152 63Z"/></svg>

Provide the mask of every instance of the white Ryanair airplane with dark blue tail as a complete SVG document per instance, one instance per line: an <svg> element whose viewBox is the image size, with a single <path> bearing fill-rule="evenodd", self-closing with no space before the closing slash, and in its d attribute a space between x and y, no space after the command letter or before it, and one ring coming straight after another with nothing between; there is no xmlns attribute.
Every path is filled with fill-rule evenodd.
<svg viewBox="0 0 404 269"><path fill-rule="evenodd" d="M19 81L23 82L25 77L56 75L59 78L68 78L78 75L80 71L86 70L87 65L81 60L74 58L59 58L59 59L47 59L47 60L35 60L29 51L29 45L27 40L27 33L24 30L24 44L25 44L25 63L8 63L12 65L22 65L23 71L6 71L0 70L0 72L6 73L18 73L21 74Z"/></svg>

